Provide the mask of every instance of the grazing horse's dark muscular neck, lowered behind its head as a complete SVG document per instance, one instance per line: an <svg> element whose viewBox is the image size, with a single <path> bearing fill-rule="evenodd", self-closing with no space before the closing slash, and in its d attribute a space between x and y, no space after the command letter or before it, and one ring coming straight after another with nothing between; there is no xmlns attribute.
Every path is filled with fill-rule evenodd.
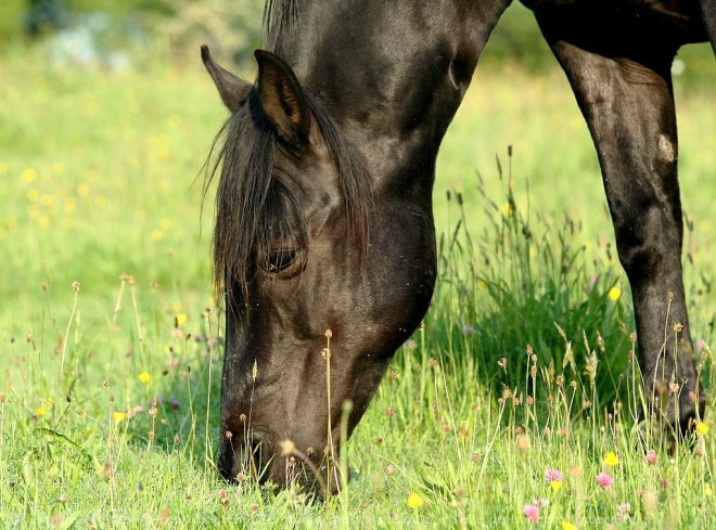
<svg viewBox="0 0 716 530"><path fill-rule="evenodd" d="M431 189L439 143L510 1L304 0L291 61L376 179L418 174Z"/></svg>

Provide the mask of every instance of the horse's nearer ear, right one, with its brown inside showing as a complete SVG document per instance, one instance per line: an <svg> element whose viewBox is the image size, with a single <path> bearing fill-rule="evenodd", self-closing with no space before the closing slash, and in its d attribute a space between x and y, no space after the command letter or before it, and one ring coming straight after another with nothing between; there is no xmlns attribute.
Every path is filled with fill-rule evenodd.
<svg viewBox="0 0 716 530"><path fill-rule="evenodd" d="M258 79L256 89L264 114L281 140L301 147L310 133L310 108L303 95L296 75L281 57L256 50Z"/></svg>

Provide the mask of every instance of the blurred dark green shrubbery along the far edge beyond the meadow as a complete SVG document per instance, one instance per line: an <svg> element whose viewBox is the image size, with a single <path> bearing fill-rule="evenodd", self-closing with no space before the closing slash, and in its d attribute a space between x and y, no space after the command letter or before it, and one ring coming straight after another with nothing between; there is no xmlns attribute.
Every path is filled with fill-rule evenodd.
<svg viewBox="0 0 716 530"><path fill-rule="evenodd" d="M54 46L93 59L112 61L118 50L140 50L163 44L174 61L186 60L196 39L214 40L221 55L240 66L251 64L251 52L260 42L263 0L3 0L0 8L0 47L18 40L53 40ZM151 43L151 46L149 46ZM81 50L85 48L85 50ZM490 66L516 61L532 72L553 68L532 13L519 2L508 9L493 35L484 63ZM60 52L57 50L57 52ZM116 56L115 56L116 60ZM713 66L707 47L690 47L677 72L703 75ZM686 66L686 67L685 67Z"/></svg>

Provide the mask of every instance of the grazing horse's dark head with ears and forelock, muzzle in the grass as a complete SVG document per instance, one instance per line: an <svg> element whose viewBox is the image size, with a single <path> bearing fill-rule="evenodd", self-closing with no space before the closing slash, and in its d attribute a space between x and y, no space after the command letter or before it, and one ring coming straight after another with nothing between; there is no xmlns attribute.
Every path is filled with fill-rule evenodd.
<svg viewBox="0 0 716 530"><path fill-rule="evenodd" d="M214 241L227 306L219 468L325 493L342 422L349 435L427 309L430 201L373 190L355 142L279 56L256 52L254 85L202 56L231 111Z"/></svg>

